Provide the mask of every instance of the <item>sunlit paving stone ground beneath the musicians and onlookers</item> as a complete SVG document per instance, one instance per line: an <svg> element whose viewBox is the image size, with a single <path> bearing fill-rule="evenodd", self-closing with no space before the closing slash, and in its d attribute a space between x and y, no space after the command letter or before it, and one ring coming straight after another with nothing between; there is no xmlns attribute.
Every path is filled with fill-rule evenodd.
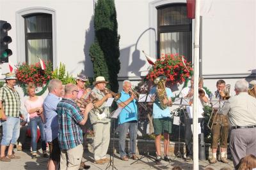
<svg viewBox="0 0 256 170"><path fill-rule="evenodd" d="M0 170L18 170L18 169L46 169L47 167L47 159L41 157L42 153L38 153L37 159L31 159L31 154L28 150L25 151L15 151L15 155L19 155L21 159L12 160L11 162L0 162ZM84 152L83 157L86 159L86 164L90 165L90 170L100 170L106 169L109 165L108 163L99 165L93 164L93 153L91 152ZM141 155L139 155L141 157ZM109 158L109 155L108 155ZM182 169L193 169L193 162L185 162L183 159L179 159L177 157L171 157L172 161L170 163L165 162L164 160L161 161L160 164L156 164L150 159L144 157L143 159L139 160L138 162L131 164L134 160L129 159L128 161L120 160L119 155L115 153L114 155L114 165L118 170L136 170L136 169L172 169L173 166L180 166ZM205 167L212 167L214 169L221 169L221 167L229 167L230 169L234 169L233 163L230 160L228 164L224 164L221 162L217 162L216 164L209 164L207 160L200 160L199 161L199 169L205 169ZM112 166L108 167L107 169L113 169Z"/></svg>

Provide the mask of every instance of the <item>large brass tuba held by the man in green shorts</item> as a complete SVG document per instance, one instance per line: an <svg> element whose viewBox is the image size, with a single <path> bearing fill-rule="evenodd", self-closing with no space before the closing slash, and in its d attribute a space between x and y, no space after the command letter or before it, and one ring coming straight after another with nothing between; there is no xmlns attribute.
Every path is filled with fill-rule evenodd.
<svg viewBox="0 0 256 170"><path fill-rule="evenodd" d="M160 102L161 108L164 110L167 108L168 104L164 104L163 100L167 99L167 94L165 90L165 82L166 82L166 76L159 76L154 80L154 83L156 84L156 94L157 98Z"/></svg>

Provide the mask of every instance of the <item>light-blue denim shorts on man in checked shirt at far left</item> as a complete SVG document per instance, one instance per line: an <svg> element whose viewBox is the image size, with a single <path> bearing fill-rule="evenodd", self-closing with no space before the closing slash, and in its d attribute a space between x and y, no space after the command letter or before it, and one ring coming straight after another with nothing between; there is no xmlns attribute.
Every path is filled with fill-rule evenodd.
<svg viewBox="0 0 256 170"><path fill-rule="evenodd" d="M7 117L6 121L2 122L3 125L3 138L1 145L9 146L10 143L16 144L17 139L20 136L20 118L19 117Z"/></svg>

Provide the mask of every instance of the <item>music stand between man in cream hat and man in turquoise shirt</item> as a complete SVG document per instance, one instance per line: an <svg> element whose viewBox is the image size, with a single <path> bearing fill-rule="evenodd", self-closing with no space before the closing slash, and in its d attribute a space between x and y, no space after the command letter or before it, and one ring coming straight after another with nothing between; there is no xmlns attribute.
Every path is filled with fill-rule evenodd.
<svg viewBox="0 0 256 170"><path fill-rule="evenodd" d="M118 115L120 114L120 111L122 111L123 108L117 108L115 111L113 111L111 114L109 114L109 118L111 118L111 120L113 120L113 146L112 146L112 155L110 155L109 157L109 162L108 165L106 167L106 169L110 169L110 167L112 167L112 169L116 169L118 170L115 165L114 165L114 151L115 151L115 120L116 118L118 118ZM112 157L112 159L111 159Z"/></svg>

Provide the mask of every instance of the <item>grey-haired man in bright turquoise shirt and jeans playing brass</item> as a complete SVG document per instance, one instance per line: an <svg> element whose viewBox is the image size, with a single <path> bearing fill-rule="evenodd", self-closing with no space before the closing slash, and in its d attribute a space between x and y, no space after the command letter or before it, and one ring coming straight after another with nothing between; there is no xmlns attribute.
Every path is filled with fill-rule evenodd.
<svg viewBox="0 0 256 170"><path fill-rule="evenodd" d="M129 129L130 136L130 149L129 157L131 159L138 159L136 156L136 139L138 132L138 108L136 100L134 99L135 94L131 90L131 81L123 81L123 90L121 97L117 101L118 107L124 108L118 117L119 125L119 153L120 159L128 160L125 153L125 138Z"/></svg>

